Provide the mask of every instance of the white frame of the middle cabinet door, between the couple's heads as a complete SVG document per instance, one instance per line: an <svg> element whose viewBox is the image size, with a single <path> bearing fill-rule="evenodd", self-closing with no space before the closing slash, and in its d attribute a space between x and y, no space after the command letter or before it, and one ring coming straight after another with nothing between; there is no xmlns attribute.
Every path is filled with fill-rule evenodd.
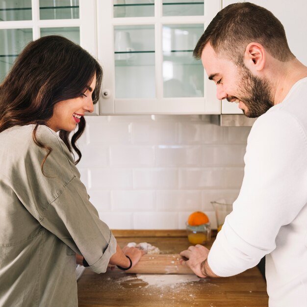
<svg viewBox="0 0 307 307"><path fill-rule="evenodd" d="M162 0L155 0L154 17L113 18L113 1L97 1L98 56L104 78L100 99L101 114L221 114L215 85L204 71L205 97L164 98L162 95L162 25L203 24L205 26L221 9L220 0L205 0L205 16L162 16ZM155 33L155 84L153 99L115 98L115 65L113 27L118 25L153 25ZM199 65L202 65L201 61Z"/></svg>

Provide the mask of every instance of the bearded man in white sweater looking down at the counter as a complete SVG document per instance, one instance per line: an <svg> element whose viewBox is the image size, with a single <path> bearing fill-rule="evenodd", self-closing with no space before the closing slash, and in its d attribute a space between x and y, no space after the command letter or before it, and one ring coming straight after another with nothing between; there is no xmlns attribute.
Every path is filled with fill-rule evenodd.
<svg viewBox="0 0 307 307"><path fill-rule="evenodd" d="M266 255L269 306L306 306L307 67L291 53L280 21L248 2L221 10L193 55L219 100L259 118L233 211L211 250L191 246L182 264L200 277L227 277Z"/></svg>

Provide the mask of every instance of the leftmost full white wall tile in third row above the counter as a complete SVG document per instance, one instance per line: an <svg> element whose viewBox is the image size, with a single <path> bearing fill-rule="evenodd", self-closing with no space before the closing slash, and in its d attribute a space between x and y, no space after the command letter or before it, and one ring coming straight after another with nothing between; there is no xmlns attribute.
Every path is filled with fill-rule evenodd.
<svg viewBox="0 0 307 307"><path fill-rule="evenodd" d="M132 189L132 170L125 168L91 168L93 189Z"/></svg>

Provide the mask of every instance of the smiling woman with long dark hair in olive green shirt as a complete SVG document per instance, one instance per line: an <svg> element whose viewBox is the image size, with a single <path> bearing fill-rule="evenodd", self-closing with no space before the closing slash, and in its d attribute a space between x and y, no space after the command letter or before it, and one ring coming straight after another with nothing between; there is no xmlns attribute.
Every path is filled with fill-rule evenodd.
<svg viewBox="0 0 307 307"><path fill-rule="evenodd" d="M75 307L76 253L97 273L142 256L120 249L75 166L101 83L88 52L47 36L26 46L0 85L0 306Z"/></svg>

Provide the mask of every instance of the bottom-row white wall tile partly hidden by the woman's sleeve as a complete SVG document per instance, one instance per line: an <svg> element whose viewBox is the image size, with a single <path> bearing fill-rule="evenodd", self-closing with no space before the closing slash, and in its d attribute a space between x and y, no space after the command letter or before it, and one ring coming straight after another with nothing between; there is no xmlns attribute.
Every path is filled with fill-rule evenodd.
<svg viewBox="0 0 307 307"><path fill-rule="evenodd" d="M99 212L100 219L112 229L133 229L132 213Z"/></svg>

